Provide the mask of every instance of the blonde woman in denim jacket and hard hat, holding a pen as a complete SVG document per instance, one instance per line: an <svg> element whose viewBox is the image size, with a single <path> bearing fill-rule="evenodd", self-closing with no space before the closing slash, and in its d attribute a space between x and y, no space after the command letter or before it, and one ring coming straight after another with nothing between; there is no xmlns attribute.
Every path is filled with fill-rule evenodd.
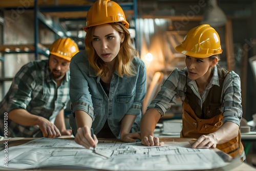
<svg viewBox="0 0 256 171"><path fill-rule="evenodd" d="M125 142L140 138L137 132L146 94L146 68L135 56L128 28L117 3L96 1L83 27L86 51L71 60L70 124L75 141L87 148L97 144L96 136Z"/></svg>

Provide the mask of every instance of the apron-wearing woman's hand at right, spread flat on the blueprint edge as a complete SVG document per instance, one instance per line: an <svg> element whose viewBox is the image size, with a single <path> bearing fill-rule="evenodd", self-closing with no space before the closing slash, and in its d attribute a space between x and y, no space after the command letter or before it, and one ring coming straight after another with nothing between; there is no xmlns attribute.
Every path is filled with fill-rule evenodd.
<svg viewBox="0 0 256 171"><path fill-rule="evenodd" d="M208 134L208 135L202 135L199 137L194 144L192 145L192 148L196 147L203 147L206 146L208 148L212 147L215 148L217 145L217 140L213 134Z"/></svg>

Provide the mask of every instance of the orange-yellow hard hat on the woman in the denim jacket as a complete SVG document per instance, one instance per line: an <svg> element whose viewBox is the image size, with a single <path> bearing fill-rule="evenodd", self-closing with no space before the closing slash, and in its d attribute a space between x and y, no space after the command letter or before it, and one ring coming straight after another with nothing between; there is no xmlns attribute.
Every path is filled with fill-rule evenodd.
<svg viewBox="0 0 256 171"><path fill-rule="evenodd" d="M83 27L83 30L86 32L91 26L115 22L121 22L125 24L127 29L129 28L129 23L125 19L122 8L117 3L110 0L96 1L89 9L86 20L86 27Z"/></svg>

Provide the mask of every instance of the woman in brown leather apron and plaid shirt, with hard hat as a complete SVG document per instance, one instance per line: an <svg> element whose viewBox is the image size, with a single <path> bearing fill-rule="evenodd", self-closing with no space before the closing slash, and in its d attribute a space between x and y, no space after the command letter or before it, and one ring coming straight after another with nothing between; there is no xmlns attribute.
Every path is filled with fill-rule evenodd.
<svg viewBox="0 0 256 171"><path fill-rule="evenodd" d="M207 24L197 26L176 50L186 55L186 68L175 69L148 106L141 119L142 144L161 145L153 134L156 123L181 98L181 137L197 138L193 148L217 147L244 160L240 77L216 66L222 53L218 33Z"/></svg>

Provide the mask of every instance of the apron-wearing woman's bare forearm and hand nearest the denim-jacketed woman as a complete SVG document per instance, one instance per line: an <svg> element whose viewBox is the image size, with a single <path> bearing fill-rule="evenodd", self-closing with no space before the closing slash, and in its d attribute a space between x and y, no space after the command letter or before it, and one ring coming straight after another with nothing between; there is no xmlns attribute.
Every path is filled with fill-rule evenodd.
<svg viewBox="0 0 256 171"><path fill-rule="evenodd" d="M158 137L154 137L154 130L161 114L156 109L148 109L140 122L141 143L147 146L163 145Z"/></svg>

